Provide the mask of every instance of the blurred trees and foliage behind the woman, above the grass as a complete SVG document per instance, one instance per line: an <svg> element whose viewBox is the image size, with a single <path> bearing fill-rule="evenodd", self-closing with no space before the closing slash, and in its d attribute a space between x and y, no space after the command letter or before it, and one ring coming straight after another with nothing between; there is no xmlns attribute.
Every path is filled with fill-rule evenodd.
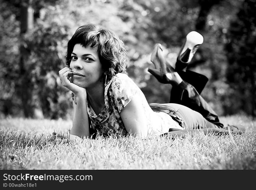
<svg viewBox="0 0 256 190"><path fill-rule="evenodd" d="M149 103L167 103L170 85L147 72L154 44L175 63L186 34L203 35L188 69L209 78L202 96L219 115L256 114L255 0L0 0L0 118L70 119L61 85L67 41L83 23L125 41L128 75Z"/></svg>

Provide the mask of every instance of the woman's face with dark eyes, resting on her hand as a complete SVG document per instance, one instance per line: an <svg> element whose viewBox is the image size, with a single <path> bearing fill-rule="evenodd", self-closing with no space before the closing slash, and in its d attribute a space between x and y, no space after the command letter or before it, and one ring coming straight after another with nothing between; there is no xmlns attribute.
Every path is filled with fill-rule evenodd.
<svg viewBox="0 0 256 190"><path fill-rule="evenodd" d="M96 86L102 79L102 64L99 61L97 47L74 46L71 55L70 68L72 69L72 83L83 87Z"/></svg>

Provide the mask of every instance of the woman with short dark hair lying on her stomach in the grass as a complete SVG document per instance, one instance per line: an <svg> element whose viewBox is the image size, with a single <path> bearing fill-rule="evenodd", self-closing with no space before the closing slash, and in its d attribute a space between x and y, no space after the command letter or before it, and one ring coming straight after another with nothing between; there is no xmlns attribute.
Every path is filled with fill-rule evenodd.
<svg viewBox="0 0 256 190"><path fill-rule="evenodd" d="M207 131L227 133L216 113L163 59L161 52L157 44L152 53L156 69L149 71L160 82L177 88L179 103L150 106L140 88L125 73L127 52L123 41L107 28L92 24L79 27L67 45L68 67L59 71L63 86L72 91L74 114L69 138L96 134L104 137L132 134L146 138L168 133L184 135L198 129L203 129L205 134ZM199 109L194 111L190 105L194 110ZM205 116L205 113L208 114ZM241 133L235 127L232 129Z"/></svg>

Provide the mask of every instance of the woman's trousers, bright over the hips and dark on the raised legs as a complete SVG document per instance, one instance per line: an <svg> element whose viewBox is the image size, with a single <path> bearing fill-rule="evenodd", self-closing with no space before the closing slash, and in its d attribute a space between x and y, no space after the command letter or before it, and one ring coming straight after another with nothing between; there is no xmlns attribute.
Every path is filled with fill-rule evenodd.
<svg viewBox="0 0 256 190"><path fill-rule="evenodd" d="M207 77L193 71L178 73L183 82L172 87L170 103L158 104L159 106L150 104L152 109L168 113L176 120L182 120L180 125L184 129L223 128L218 115L200 95L208 81ZM185 79L194 84L198 90Z"/></svg>

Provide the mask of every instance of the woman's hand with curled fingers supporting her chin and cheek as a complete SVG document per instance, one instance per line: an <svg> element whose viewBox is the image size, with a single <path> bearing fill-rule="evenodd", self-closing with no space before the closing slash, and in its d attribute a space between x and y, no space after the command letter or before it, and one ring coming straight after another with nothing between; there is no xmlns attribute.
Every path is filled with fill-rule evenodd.
<svg viewBox="0 0 256 190"><path fill-rule="evenodd" d="M86 89L82 88L74 83L72 83L72 75L73 72L70 68L64 67L59 71L61 83L63 86L65 86L67 89L72 91L75 95L83 94L86 95Z"/></svg>

